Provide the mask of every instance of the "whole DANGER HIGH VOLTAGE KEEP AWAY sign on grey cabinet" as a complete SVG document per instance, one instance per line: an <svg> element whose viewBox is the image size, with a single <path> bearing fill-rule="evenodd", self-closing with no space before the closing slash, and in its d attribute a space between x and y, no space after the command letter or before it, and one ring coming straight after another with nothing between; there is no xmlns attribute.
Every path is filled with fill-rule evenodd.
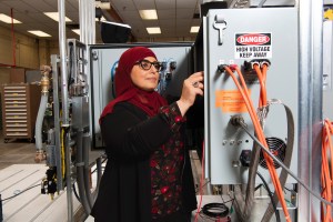
<svg viewBox="0 0 333 222"><path fill-rule="evenodd" d="M270 59L272 58L271 33L236 33L235 59Z"/></svg>

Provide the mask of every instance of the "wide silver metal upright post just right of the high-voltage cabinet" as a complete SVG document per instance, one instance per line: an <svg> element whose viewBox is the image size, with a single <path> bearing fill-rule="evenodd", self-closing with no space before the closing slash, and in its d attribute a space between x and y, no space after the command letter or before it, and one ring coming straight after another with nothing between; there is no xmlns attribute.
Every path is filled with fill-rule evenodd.
<svg viewBox="0 0 333 222"><path fill-rule="evenodd" d="M300 11L299 178L320 193L323 1L297 0L296 6ZM300 188L299 221L321 221L320 205L319 200Z"/></svg>

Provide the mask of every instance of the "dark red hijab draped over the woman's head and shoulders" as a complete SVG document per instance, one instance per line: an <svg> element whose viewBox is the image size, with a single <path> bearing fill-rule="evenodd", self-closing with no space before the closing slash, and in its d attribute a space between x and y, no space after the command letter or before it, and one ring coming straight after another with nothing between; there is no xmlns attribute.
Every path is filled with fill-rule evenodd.
<svg viewBox="0 0 333 222"><path fill-rule="evenodd" d="M122 53L114 74L115 99L104 108L100 117L100 123L107 114L113 111L114 105L119 102L128 101L143 110L149 117L155 115L160 107L168 104L167 100L158 92L141 90L131 80L133 65L147 57L157 59L154 52L144 47L134 47Z"/></svg>

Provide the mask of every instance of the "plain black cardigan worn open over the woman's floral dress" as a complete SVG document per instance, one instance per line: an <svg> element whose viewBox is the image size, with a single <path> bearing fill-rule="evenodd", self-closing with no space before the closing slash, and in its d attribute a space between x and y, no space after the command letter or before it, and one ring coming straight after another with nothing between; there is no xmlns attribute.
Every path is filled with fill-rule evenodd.
<svg viewBox="0 0 333 222"><path fill-rule="evenodd" d="M97 222L151 221L150 154L172 134L165 115L148 118L135 105L121 102L104 117L101 131L108 163L91 215ZM188 151L184 160L183 211L191 212L196 199Z"/></svg>

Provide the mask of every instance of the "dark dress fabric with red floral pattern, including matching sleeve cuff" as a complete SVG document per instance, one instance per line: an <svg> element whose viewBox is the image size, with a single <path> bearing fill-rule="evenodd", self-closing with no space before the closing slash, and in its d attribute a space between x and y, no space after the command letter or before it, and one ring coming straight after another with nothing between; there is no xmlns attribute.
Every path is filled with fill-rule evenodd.
<svg viewBox="0 0 333 222"><path fill-rule="evenodd" d="M155 151L150 160L152 219L170 215L181 210L184 143L180 127L185 121L175 104L160 110L173 132L170 140Z"/></svg>

